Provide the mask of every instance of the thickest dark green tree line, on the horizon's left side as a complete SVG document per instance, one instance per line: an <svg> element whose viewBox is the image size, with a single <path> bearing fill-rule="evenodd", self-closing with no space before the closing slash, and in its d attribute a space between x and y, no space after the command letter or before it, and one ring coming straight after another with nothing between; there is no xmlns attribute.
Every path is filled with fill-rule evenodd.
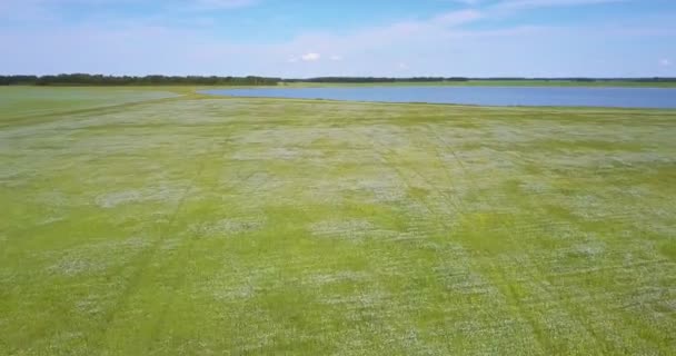
<svg viewBox="0 0 676 356"><path fill-rule="evenodd" d="M199 76L102 76L102 75L58 75L58 76L0 76L0 86L276 86L281 78L267 77L199 77Z"/></svg>

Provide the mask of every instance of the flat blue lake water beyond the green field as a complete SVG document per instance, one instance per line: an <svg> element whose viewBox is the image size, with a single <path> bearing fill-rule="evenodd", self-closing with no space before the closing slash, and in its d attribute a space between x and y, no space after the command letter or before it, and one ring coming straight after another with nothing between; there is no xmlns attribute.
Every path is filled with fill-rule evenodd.
<svg viewBox="0 0 676 356"><path fill-rule="evenodd" d="M216 89L202 92L232 97L480 106L676 108L676 88L344 87Z"/></svg>

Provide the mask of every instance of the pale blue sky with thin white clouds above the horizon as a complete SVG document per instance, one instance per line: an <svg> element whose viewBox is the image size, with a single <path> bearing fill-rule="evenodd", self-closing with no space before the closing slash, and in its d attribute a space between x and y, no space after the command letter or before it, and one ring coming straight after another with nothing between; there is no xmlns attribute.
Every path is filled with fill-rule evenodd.
<svg viewBox="0 0 676 356"><path fill-rule="evenodd" d="M676 77L676 0L0 0L0 75Z"/></svg>

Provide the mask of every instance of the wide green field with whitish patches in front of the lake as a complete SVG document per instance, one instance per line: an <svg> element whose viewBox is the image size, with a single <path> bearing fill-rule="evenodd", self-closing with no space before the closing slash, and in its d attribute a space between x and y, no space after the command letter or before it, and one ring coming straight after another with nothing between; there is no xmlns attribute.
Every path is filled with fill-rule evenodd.
<svg viewBox="0 0 676 356"><path fill-rule="evenodd" d="M0 355L676 349L676 111L181 90L0 88Z"/></svg>

